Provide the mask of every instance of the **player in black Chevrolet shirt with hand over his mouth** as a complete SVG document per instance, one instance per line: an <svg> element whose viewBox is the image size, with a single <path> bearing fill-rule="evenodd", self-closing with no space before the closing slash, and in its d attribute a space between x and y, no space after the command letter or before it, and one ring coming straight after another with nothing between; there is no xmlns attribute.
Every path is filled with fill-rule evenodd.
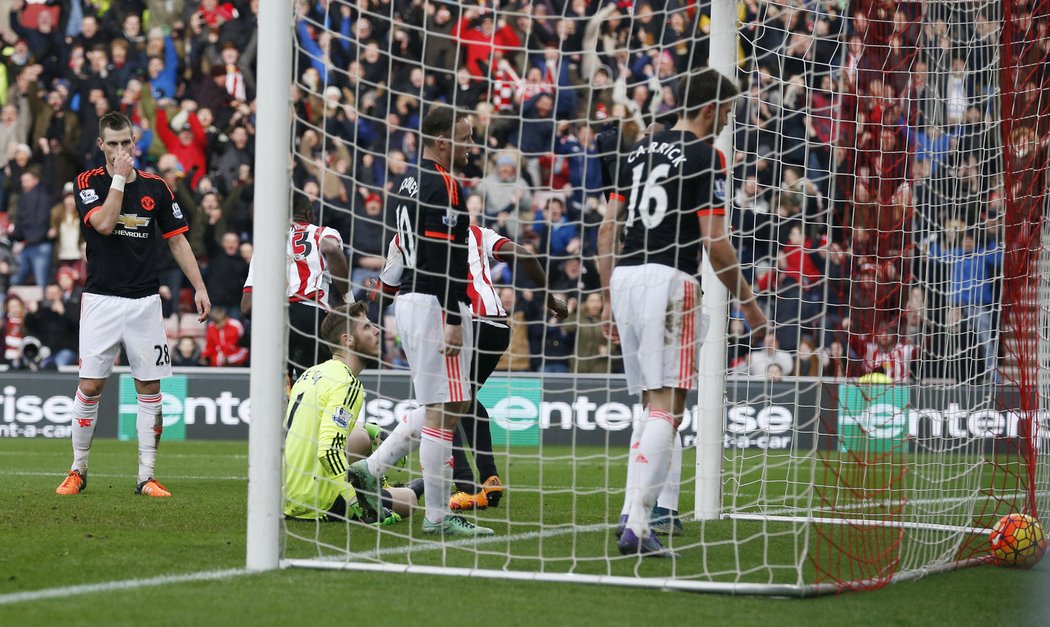
<svg viewBox="0 0 1050 627"><path fill-rule="evenodd" d="M153 477L161 416L161 379L171 375L171 357L161 315L158 246L163 238L196 291L197 319L211 302L186 241L189 227L163 179L134 168L131 121L111 111L99 120L105 167L82 172L75 188L87 243L87 283L80 320L80 385L74 401L69 475L56 489L75 495L87 486L87 458L99 399L113 359L124 346L139 394L139 479L135 493L170 497Z"/></svg>

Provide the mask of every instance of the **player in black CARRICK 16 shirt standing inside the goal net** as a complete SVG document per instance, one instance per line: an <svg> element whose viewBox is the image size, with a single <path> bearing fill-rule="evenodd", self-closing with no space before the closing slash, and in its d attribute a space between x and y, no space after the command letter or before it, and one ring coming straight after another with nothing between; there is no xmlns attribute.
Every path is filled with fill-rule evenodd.
<svg viewBox="0 0 1050 627"><path fill-rule="evenodd" d="M611 309L628 389L647 393L649 404L628 460L634 465L633 485L627 486L631 503L618 543L625 555L673 557L652 535L650 513L667 479L686 394L697 383L706 331L698 279L701 243L751 328L766 325L726 231L728 172L713 144L738 90L717 71L702 68L681 78L678 93L685 106L676 124L621 158L616 191L598 232L606 315Z"/></svg>

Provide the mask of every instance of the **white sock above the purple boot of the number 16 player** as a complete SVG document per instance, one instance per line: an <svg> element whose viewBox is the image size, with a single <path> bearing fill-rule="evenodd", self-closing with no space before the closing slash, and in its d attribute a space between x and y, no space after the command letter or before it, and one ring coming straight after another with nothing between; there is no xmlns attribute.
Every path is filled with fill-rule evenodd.
<svg viewBox="0 0 1050 627"><path fill-rule="evenodd" d="M671 441L674 439L674 418L667 412L649 410L646 432L635 450L634 463L637 465L637 489L627 526L638 538L649 536L649 518L656 495L664 487L671 461Z"/></svg>

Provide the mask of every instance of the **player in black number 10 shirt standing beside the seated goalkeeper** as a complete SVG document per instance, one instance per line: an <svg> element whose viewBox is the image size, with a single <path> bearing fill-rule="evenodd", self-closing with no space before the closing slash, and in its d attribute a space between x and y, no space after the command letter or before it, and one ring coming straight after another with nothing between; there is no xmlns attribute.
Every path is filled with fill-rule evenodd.
<svg viewBox="0 0 1050 627"><path fill-rule="evenodd" d="M365 510L378 511L380 479L410 452L419 427L426 507L423 532L490 536L492 529L474 525L448 508L453 431L469 409L474 357L466 289L469 218L465 194L450 170L466 163L472 144L470 125L466 119L457 120L452 108L440 106L426 113L420 130L423 158L418 173L394 186L405 266L395 316L416 401L426 411L422 425L402 421L369 459L351 464L348 475Z"/></svg>

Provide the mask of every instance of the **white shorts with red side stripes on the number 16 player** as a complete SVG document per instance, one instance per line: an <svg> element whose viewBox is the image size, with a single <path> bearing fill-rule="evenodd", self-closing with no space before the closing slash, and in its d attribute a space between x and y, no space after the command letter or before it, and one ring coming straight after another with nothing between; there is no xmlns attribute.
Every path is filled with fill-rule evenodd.
<svg viewBox="0 0 1050 627"><path fill-rule="evenodd" d="M663 264L624 266L609 289L628 391L695 390L708 330L696 278Z"/></svg>

